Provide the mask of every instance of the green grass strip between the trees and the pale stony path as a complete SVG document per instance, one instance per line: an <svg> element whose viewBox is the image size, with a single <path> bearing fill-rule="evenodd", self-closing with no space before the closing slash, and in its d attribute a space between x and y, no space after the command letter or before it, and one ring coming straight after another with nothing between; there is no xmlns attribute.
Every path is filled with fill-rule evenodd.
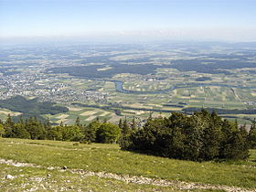
<svg viewBox="0 0 256 192"><path fill-rule="evenodd" d="M68 142L2 138L0 148L0 158L37 165L67 165L90 171L256 188L255 151L251 151L249 162L197 163L123 152L116 144L73 145Z"/></svg>

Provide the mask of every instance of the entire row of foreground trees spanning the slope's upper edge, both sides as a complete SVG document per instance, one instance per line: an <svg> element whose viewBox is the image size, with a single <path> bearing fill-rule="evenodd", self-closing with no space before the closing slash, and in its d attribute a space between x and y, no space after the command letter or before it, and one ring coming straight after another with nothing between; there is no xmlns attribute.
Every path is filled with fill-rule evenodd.
<svg viewBox="0 0 256 192"><path fill-rule="evenodd" d="M8 115L0 121L0 136L24 139L48 139L80 142L82 144L118 143L121 149L159 155L169 158L210 161L249 157L249 149L256 149L256 121L249 132L246 125L222 120L216 112L201 110L193 115L173 112L168 118L151 115L143 126L133 119L118 124L100 122L99 119L83 125L78 117L72 125L60 123L52 126L36 117L14 122Z"/></svg>

